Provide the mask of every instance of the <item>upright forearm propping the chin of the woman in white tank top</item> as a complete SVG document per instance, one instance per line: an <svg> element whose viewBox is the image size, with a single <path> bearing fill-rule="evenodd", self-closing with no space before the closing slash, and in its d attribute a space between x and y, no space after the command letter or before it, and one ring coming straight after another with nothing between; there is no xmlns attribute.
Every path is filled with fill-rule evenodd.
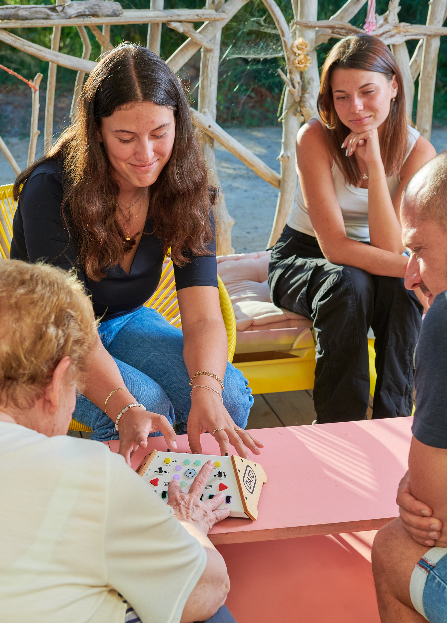
<svg viewBox="0 0 447 623"><path fill-rule="evenodd" d="M402 227L395 212L382 162L368 166L368 225L373 247L402 254Z"/></svg>

